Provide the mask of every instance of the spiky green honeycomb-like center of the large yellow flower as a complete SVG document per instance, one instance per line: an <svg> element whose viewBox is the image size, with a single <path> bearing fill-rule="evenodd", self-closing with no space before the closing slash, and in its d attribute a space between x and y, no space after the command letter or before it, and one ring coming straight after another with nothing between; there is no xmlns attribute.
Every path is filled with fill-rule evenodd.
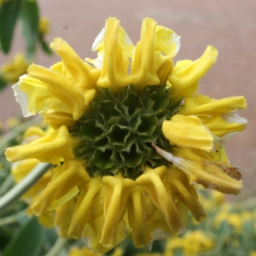
<svg viewBox="0 0 256 256"><path fill-rule="evenodd" d="M171 150L161 126L179 108L180 102L170 100L166 86L146 86L139 92L128 85L118 94L100 89L90 102L90 113L84 113L71 131L82 142L74 154L88 160L86 171L91 177L122 170L125 177L136 179L145 165L167 165L151 144Z"/></svg>

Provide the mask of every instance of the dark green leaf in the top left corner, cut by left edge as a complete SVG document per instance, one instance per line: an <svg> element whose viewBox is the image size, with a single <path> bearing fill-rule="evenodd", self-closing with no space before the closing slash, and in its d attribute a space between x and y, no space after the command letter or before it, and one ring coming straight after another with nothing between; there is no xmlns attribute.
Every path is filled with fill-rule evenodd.
<svg viewBox="0 0 256 256"><path fill-rule="evenodd" d="M5 1L0 9L0 43L1 49L9 52L15 31L15 24L19 16L20 1Z"/></svg>

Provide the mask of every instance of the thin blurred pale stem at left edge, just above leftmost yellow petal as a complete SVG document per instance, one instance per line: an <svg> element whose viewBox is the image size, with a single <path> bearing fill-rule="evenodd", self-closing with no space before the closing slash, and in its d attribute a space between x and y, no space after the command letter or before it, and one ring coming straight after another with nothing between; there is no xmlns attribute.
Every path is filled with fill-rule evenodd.
<svg viewBox="0 0 256 256"><path fill-rule="evenodd" d="M13 130L9 131L5 136L3 136L0 142L0 154L3 154L5 146L10 140L14 139L20 132L25 131L27 127L38 124L40 120L41 118L30 119L27 122L16 126Z"/></svg>

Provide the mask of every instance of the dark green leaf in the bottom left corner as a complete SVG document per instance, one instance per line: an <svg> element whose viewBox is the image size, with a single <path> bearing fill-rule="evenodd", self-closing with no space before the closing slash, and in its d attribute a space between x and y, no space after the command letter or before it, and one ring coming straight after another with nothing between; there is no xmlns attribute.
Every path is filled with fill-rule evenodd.
<svg viewBox="0 0 256 256"><path fill-rule="evenodd" d="M43 228L37 218L31 218L12 237L4 248L2 256L38 256L43 242Z"/></svg>

